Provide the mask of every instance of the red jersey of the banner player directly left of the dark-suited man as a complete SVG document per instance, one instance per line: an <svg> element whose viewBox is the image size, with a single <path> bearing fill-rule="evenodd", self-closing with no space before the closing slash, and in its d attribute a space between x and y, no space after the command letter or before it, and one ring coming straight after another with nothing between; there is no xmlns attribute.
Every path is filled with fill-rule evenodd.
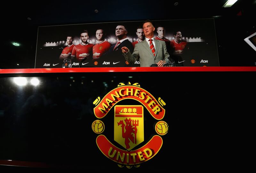
<svg viewBox="0 0 256 173"><path fill-rule="evenodd" d="M108 49L111 47L111 44L104 40L101 43L97 43L92 48L93 60L99 59Z"/></svg>

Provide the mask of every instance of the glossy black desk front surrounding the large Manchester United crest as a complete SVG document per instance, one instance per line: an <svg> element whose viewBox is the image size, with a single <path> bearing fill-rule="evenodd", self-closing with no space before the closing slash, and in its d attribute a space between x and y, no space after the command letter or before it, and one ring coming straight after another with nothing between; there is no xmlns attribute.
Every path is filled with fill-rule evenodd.
<svg viewBox="0 0 256 173"><path fill-rule="evenodd" d="M139 83L155 98L163 98L163 121L170 128L162 136L159 153L140 168L129 170L218 169L243 156L243 122L252 109L249 98L255 97L255 72L5 76L0 78L0 160L44 162L59 169L128 170L119 168L100 152L97 135L92 131L92 122L97 119L92 102L120 82ZM25 77L27 84L19 86L22 80L17 82L14 76ZM39 81L37 86L30 83L31 79L37 83L35 78ZM123 100L119 104L138 102ZM113 139L113 112L112 109L101 119L106 126L104 135L121 148ZM156 135L155 122L145 109L143 145Z"/></svg>

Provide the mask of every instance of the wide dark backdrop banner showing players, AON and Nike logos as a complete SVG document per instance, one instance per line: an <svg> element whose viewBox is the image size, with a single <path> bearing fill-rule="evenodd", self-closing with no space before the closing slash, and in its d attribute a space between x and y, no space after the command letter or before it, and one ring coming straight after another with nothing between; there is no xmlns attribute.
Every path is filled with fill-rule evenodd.
<svg viewBox="0 0 256 173"><path fill-rule="evenodd" d="M219 66L213 19L153 20L154 38L163 40L176 66ZM89 23L38 27L35 68L62 67L71 59L72 67L140 67L122 54L126 46L145 39L143 21ZM125 28L124 31L122 28ZM118 41L126 35L122 43ZM119 40L118 40L119 38ZM139 47L139 46L138 46Z"/></svg>

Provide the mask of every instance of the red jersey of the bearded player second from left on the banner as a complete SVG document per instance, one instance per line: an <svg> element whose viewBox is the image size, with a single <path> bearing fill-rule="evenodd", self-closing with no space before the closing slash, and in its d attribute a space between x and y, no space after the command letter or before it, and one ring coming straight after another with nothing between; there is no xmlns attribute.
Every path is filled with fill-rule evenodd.
<svg viewBox="0 0 256 173"><path fill-rule="evenodd" d="M76 57L78 61L81 61L85 57L92 57L92 47L93 44L87 43L83 45L82 43L74 46L71 57Z"/></svg>

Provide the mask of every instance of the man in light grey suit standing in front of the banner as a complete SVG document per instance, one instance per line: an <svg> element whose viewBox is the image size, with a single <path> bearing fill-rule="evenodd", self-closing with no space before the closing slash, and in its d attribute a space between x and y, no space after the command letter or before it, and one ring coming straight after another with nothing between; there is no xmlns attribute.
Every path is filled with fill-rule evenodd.
<svg viewBox="0 0 256 173"><path fill-rule="evenodd" d="M170 57L166 49L164 41L154 39L155 27L150 20L143 22L143 32L145 40L135 44L134 51L131 54L127 47L122 47L124 58L129 63L140 61L140 67L150 67L151 64L156 64L157 67L164 65L164 59ZM150 40L151 39L151 40ZM152 46L152 43L154 46Z"/></svg>

